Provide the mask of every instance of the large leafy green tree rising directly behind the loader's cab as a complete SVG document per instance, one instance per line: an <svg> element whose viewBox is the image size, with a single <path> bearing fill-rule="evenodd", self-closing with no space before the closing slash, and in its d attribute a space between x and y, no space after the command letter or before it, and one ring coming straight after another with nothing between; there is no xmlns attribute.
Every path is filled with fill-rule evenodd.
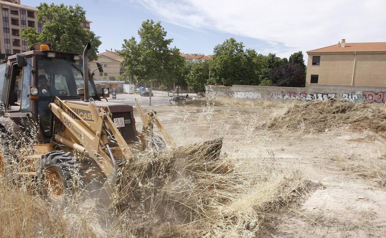
<svg viewBox="0 0 386 238"><path fill-rule="evenodd" d="M37 20L43 23L43 31L38 33L33 27L21 29L20 36L27 44L49 41L53 50L81 54L87 42L91 42L89 59L98 58L98 47L102 42L94 32L88 32L81 26L86 20L82 7L41 3L37 8Z"/></svg>

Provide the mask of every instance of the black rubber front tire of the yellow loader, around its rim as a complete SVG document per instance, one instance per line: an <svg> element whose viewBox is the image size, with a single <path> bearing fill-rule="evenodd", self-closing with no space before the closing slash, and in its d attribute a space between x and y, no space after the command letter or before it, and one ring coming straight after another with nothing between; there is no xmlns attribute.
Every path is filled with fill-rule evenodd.
<svg viewBox="0 0 386 238"><path fill-rule="evenodd" d="M54 197L47 191L45 173L46 171L56 172L60 177L63 185L63 193L58 197ZM72 174L77 172L80 175L80 184L74 184ZM83 188L84 173L80 165L76 164L76 158L71 156L70 152L57 150L42 156L42 160L37 170L37 182L39 185L40 194L51 203L66 204L68 197L73 195L79 189ZM78 186L79 185L79 186Z"/></svg>

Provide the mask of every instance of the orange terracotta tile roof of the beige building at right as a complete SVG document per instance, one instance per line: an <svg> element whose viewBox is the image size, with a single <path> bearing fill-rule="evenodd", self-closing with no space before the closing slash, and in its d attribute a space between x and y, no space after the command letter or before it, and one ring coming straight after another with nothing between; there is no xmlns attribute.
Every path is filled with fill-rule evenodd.
<svg viewBox="0 0 386 238"><path fill-rule="evenodd" d="M307 51L312 52L361 52L361 51L386 51L386 42L345 43L344 48L340 44Z"/></svg>

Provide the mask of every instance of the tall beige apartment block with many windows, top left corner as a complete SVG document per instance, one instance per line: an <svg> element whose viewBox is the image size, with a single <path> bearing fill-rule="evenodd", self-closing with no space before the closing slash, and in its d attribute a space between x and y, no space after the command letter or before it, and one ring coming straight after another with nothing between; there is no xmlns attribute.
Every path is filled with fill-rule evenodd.
<svg viewBox="0 0 386 238"><path fill-rule="evenodd" d="M27 42L20 37L20 29L34 27L42 32L43 24L37 22L37 8L21 5L20 0L0 0L3 30L0 31L0 58L28 51ZM90 21L82 23L90 31ZM36 43L36 42L34 42Z"/></svg>

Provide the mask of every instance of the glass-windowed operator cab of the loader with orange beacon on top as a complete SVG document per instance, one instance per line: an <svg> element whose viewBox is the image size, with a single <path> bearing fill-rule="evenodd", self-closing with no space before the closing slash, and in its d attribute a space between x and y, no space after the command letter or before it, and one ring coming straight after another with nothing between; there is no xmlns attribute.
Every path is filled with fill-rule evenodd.
<svg viewBox="0 0 386 238"><path fill-rule="evenodd" d="M2 115L25 127L30 126L29 121L39 122L39 141L49 141L53 123L49 103L56 96L63 100L81 100L78 89L85 86L82 57L51 51L45 44L34 44L30 51L9 56L6 62L0 65ZM89 71L88 74L89 98L100 101L93 74ZM29 120L31 117L34 120Z"/></svg>

